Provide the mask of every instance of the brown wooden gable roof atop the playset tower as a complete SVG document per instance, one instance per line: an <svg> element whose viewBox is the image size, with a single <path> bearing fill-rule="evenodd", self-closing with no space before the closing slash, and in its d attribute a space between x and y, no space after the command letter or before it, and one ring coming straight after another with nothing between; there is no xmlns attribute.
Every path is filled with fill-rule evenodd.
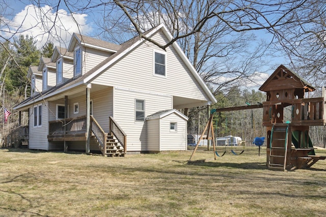
<svg viewBox="0 0 326 217"><path fill-rule="evenodd" d="M306 92L314 91L315 88L305 79L280 65L273 74L259 87L261 91L303 88Z"/></svg>

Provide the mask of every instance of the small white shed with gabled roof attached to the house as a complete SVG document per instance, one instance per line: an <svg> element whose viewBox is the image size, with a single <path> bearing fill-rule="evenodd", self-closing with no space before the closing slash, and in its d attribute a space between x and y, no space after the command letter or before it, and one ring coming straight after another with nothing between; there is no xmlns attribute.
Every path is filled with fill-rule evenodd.
<svg viewBox="0 0 326 217"><path fill-rule="evenodd" d="M186 150L188 117L176 109L159 111L146 117L147 150Z"/></svg>

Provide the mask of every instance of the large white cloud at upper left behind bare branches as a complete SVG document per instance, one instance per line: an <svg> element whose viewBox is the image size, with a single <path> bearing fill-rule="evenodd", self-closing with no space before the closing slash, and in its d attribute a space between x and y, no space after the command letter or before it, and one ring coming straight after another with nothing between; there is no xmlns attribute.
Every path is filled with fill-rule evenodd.
<svg viewBox="0 0 326 217"><path fill-rule="evenodd" d="M2 23L0 31L6 38L17 34L32 36L37 40L38 48L48 41L65 47L68 46L73 33L92 32L91 25L86 21L87 14L70 14L63 9L57 12L47 5L41 8L28 5L12 20L6 20L7 25Z"/></svg>

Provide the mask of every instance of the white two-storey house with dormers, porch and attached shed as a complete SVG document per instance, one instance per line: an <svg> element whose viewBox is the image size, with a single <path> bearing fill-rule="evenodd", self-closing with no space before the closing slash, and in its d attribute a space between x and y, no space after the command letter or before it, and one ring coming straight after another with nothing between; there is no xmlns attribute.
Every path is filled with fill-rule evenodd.
<svg viewBox="0 0 326 217"><path fill-rule="evenodd" d="M161 44L172 39L163 24L144 35ZM29 112L32 149L99 148L107 156L186 149L187 118L177 110L216 102L176 42L162 50L140 37L116 45L73 34L67 50L41 59L39 71L41 94L14 108ZM177 121L182 134L161 131L164 121Z"/></svg>

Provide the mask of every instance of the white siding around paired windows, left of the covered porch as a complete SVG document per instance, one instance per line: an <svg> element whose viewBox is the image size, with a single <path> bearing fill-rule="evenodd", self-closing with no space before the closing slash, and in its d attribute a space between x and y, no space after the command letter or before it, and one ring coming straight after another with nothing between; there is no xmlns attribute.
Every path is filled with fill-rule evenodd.
<svg viewBox="0 0 326 217"><path fill-rule="evenodd" d="M33 106L34 107L34 106ZM30 117L34 117L34 108L30 108ZM37 109L39 105L37 105ZM30 149L41 149L48 150L48 110L47 106L42 104L42 126L34 127L34 118L30 121L30 138L29 148Z"/></svg>

